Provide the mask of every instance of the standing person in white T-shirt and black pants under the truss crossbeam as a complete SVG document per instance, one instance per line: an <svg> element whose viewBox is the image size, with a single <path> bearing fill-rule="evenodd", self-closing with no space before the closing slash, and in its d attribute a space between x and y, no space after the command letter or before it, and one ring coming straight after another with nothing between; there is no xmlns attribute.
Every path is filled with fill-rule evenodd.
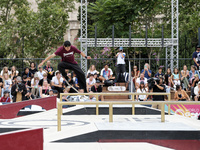
<svg viewBox="0 0 200 150"><path fill-rule="evenodd" d="M126 71L125 68L125 56L126 54L123 53L123 47L119 48L119 52L117 53L117 82L125 82L124 72Z"/></svg>

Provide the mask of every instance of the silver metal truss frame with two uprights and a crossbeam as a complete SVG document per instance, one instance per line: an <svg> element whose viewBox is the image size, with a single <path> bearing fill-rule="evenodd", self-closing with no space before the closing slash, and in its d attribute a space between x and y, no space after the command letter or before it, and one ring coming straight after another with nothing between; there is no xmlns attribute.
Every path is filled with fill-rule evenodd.
<svg viewBox="0 0 200 150"><path fill-rule="evenodd" d="M171 0L171 38L87 38L87 0L81 0L81 51L87 55L87 47L165 47L166 67L178 68L178 0ZM87 72L87 60L81 59L81 68Z"/></svg>

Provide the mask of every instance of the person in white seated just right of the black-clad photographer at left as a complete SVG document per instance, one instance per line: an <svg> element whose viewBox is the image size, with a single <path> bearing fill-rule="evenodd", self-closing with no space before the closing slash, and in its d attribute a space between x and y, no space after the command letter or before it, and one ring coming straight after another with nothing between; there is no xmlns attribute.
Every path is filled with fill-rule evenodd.
<svg viewBox="0 0 200 150"><path fill-rule="evenodd" d="M31 92L32 92L32 94L34 95L35 98L40 97L39 96L39 86L38 86L39 80L40 79L38 77L38 74L35 73L34 78L31 80L31 88L32 88Z"/></svg>

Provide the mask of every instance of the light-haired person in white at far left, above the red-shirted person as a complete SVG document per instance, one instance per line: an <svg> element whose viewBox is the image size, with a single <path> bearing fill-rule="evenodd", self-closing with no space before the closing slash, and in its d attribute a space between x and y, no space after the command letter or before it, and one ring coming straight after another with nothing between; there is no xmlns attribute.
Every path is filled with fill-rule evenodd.
<svg viewBox="0 0 200 150"><path fill-rule="evenodd" d="M8 74L5 73L3 75L3 89L2 89L1 95L3 95L5 90L9 91L9 93L10 93L11 87L12 87L12 80L9 78ZM12 99L11 93L10 93L10 98Z"/></svg>

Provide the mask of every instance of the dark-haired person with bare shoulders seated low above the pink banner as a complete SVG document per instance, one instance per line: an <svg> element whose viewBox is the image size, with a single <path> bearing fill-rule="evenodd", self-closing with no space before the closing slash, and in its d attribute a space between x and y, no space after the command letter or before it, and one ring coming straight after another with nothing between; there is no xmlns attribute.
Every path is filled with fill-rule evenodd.
<svg viewBox="0 0 200 150"><path fill-rule="evenodd" d="M190 97L184 90L182 90L180 85L176 86L176 92L174 98L176 101L186 101L186 100L190 101Z"/></svg>

